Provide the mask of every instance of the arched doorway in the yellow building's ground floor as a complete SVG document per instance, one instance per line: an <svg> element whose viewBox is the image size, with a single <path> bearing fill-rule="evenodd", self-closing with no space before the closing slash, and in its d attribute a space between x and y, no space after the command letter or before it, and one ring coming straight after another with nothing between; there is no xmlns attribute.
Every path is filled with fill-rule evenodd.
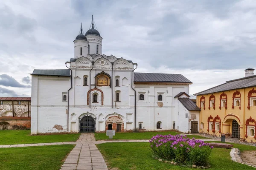
<svg viewBox="0 0 256 170"><path fill-rule="evenodd" d="M222 133L228 133L232 138L240 138L240 124L238 116L228 114L224 118Z"/></svg>

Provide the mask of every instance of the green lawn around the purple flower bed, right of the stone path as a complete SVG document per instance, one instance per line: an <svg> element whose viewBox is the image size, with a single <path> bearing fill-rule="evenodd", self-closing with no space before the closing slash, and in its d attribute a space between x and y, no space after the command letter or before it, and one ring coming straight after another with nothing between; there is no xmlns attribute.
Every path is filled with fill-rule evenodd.
<svg viewBox="0 0 256 170"><path fill-rule="evenodd" d="M119 170L192 170L175 166L152 158L149 144L146 142L103 143L97 144L109 168ZM256 147L234 144L240 150L256 150ZM213 148L209 170L255 170L244 164L231 161L230 149Z"/></svg>

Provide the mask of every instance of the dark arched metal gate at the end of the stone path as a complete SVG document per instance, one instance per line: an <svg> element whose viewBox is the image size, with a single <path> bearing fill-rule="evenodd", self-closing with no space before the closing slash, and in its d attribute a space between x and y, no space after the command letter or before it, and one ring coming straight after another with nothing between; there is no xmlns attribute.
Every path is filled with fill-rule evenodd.
<svg viewBox="0 0 256 170"><path fill-rule="evenodd" d="M79 118L79 133L92 132L96 132L96 118L88 114Z"/></svg>

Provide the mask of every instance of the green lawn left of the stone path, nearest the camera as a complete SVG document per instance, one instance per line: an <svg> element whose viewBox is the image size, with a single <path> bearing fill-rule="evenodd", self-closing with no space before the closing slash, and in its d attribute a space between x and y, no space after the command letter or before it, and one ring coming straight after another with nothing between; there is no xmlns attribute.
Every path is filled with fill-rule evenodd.
<svg viewBox="0 0 256 170"><path fill-rule="evenodd" d="M0 170L59 170L74 145L0 148Z"/></svg>

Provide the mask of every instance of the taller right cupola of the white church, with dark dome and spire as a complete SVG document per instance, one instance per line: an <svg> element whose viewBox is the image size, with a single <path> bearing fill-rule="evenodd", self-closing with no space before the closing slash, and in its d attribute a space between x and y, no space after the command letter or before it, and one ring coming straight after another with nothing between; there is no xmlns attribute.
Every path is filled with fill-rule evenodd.
<svg viewBox="0 0 256 170"><path fill-rule="evenodd" d="M102 54L102 37L100 37L99 31L94 28L93 18L92 25L85 36L89 41L88 54Z"/></svg>

